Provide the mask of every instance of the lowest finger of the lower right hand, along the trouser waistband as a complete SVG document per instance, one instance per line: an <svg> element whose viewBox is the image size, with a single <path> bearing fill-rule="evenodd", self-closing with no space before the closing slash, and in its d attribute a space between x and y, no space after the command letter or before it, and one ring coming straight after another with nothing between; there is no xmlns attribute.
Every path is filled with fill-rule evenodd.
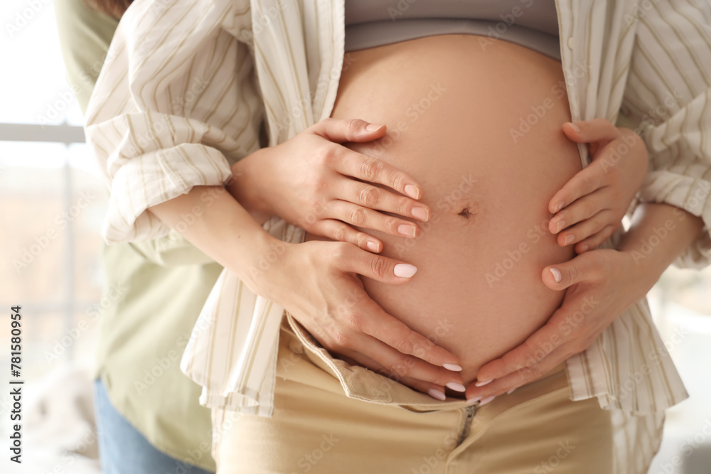
<svg viewBox="0 0 711 474"><path fill-rule="evenodd" d="M530 384L538 379L552 375L548 372L553 370L560 362L567 360L572 355L569 352L569 348L561 346L545 355L535 365L503 375L483 387L476 387L476 384L471 383L469 387L466 387L466 399L474 402L475 400L483 400L492 396L498 397L499 395L513 392L525 384Z"/></svg>

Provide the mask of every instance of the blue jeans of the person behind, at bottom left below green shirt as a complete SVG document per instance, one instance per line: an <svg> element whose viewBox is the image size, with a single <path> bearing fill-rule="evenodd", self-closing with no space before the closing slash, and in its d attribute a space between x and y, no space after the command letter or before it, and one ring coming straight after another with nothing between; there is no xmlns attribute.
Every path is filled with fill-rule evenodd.
<svg viewBox="0 0 711 474"><path fill-rule="evenodd" d="M94 406L105 474L212 474L154 448L114 409L101 379L94 382Z"/></svg>

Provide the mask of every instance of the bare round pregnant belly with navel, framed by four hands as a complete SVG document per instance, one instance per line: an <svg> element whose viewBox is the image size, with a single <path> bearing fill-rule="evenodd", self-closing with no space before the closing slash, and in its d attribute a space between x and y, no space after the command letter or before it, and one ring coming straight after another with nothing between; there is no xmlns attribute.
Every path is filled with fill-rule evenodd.
<svg viewBox="0 0 711 474"><path fill-rule="evenodd" d="M505 41L483 50L481 39L350 53L331 115L386 124L383 138L346 146L422 186L432 212L419 237L365 230L417 274L399 286L363 283L385 311L461 357L466 383L560 306L541 271L573 251L548 232L547 203L581 168L561 131L570 109L560 63Z"/></svg>

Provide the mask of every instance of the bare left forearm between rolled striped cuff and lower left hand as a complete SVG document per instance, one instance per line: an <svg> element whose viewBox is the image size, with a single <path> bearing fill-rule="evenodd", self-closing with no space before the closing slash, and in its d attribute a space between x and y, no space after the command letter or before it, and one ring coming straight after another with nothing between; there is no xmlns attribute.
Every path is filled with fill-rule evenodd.
<svg viewBox="0 0 711 474"><path fill-rule="evenodd" d="M149 211L255 290L250 268L277 244L277 239L255 222L225 188L196 186Z"/></svg>

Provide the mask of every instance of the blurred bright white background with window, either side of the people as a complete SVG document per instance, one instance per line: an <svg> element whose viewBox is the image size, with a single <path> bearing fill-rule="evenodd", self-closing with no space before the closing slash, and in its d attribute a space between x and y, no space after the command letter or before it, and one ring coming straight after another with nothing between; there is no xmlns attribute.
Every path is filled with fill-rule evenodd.
<svg viewBox="0 0 711 474"><path fill-rule="evenodd" d="M65 80L50 0L0 6L0 472L99 473L90 373L107 193ZM711 268L649 295L691 398L667 412L651 474L711 473ZM10 308L22 306L23 464L8 458Z"/></svg>

